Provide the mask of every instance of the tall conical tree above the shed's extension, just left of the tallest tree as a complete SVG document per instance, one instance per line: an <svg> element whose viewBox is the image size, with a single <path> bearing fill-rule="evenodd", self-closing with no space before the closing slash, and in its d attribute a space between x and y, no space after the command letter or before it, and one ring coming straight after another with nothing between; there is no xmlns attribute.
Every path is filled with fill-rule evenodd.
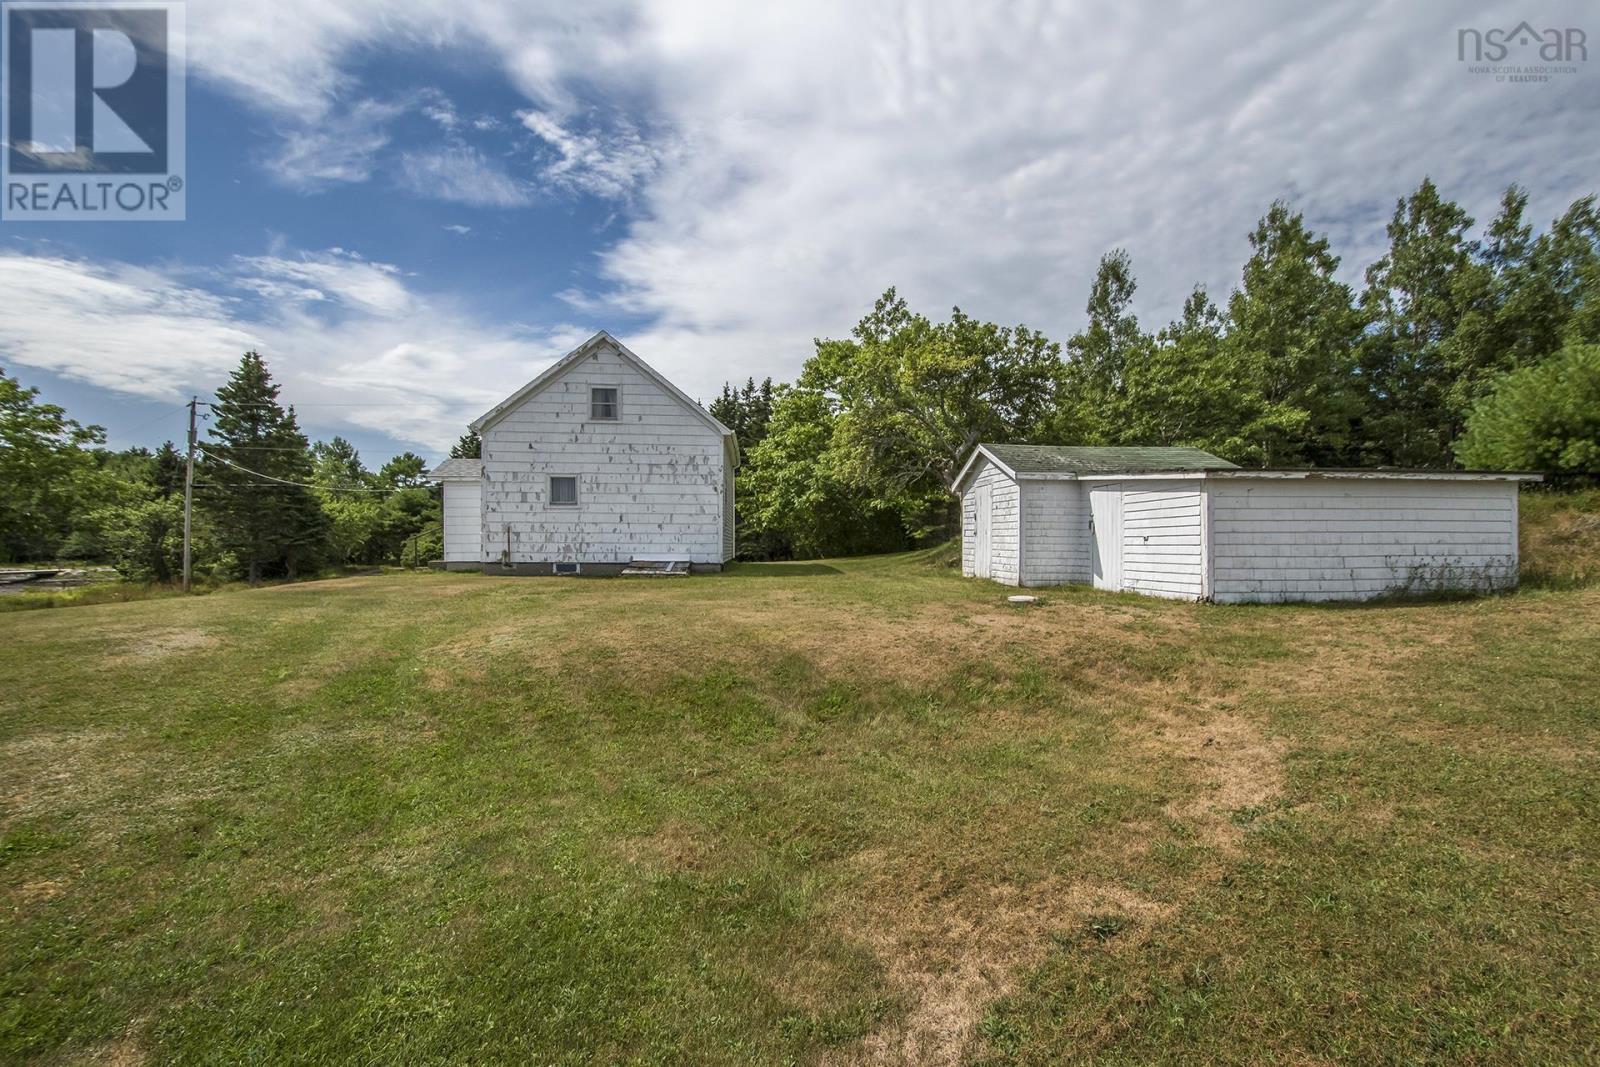
<svg viewBox="0 0 1600 1067"><path fill-rule="evenodd" d="M1226 371L1242 405L1238 462L1349 462L1360 410L1350 288L1326 237L1277 202L1250 235L1243 285L1227 302Z"/></svg>

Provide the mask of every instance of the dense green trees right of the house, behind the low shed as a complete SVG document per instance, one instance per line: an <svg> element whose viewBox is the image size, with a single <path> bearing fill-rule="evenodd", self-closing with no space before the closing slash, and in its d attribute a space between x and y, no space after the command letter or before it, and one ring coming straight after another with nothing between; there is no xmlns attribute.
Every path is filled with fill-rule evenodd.
<svg viewBox="0 0 1600 1067"><path fill-rule="evenodd" d="M955 533L949 480L978 442L1192 445L1251 467L1600 472L1600 213L1534 232L1512 186L1490 224L1432 181L1395 205L1365 285L1301 213L1272 203L1238 285L1173 322L1133 312L1107 253L1086 325L946 322L891 288L800 376L731 384L741 555L896 550Z"/></svg>

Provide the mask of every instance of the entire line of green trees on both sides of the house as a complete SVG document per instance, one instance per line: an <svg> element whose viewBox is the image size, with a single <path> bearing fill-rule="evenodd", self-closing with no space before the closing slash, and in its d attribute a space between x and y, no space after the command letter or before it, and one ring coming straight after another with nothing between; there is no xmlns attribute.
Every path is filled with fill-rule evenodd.
<svg viewBox="0 0 1600 1067"><path fill-rule="evenodd" d="M1133 261L1107 253L1086 325L1061 344L888 290L794 382L725 386L746 558L896 550L955 533L949 482L978 442L1194 445L1243 466L1600 470L1600 213L1536 232L1510 187L1482 232L1430 181L1389 248L1342 283L1325 235L1285 203L1250 234L1222 301L1197 286L1157 330L1133 312ZM440 555L438 491L405 453L368 470L312 445L248 352L216 402L195 491L203 574L294 577ZM182 456L112 451L0 371L0 558L78 558L171 581ZM466 434L453 456L477 456Z"/></svg>

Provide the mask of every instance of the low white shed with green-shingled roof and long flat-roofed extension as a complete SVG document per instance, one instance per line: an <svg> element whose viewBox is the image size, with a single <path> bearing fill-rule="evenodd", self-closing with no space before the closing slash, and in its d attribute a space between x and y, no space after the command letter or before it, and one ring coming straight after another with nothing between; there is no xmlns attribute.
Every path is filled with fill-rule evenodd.
<svg viewBox="0 0 1600 1067"><path fill-rule="evenodd" d="M962 573L1219 603L1517 584L1517 486L1490 470L1246 470L1197 448L979 445Z"/></svg>

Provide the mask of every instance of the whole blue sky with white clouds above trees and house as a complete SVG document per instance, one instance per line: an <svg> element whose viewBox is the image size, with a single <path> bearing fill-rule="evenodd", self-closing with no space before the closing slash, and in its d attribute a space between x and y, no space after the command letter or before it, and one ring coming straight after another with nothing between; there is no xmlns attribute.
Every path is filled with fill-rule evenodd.
<svg viewBox="0 0 1600 1067"><path fill-rule="evenodd" d="M1355 282L1424 174L1600 186L1600 54L1458 61L1597 11L190 0L189 219L0 224L0 366L152 445L258 347L312 435L432 458L598 328L709 398L890 285L1064 339L1114 246L1158 325L1280 197Z"/></svg>

